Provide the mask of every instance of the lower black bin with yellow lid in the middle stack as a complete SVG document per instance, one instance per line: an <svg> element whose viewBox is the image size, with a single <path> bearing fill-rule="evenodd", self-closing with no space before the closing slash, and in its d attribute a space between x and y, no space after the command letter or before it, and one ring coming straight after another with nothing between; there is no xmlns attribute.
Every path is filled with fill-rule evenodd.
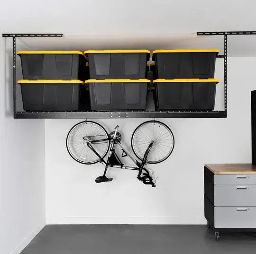
<svg viewBox="0 0 256 254"><path fill-rule="evenodd" d="M146 66L146 64L145 64ZM90 79L91 110L145 110L148 79Z"/></svg>

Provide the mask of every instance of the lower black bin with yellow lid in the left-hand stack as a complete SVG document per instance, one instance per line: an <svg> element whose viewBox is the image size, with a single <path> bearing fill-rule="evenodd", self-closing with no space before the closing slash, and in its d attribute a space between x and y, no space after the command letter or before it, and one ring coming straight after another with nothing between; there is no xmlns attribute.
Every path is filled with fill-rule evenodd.
<svg viewBox="0 0 256 254"><path fill-rule="evenodd" d="M18 80L26 111L79 110L81 80Z"/></svg>

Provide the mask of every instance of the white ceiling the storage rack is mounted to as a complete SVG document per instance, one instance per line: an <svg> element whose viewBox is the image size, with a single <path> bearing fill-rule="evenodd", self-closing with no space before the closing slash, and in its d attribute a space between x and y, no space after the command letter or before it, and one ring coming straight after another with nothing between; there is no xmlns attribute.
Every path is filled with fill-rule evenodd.
<svg viewBox="0 0 256 254"><path fill-rule="evenodd" d="M255 0L12 0L1 3L3 33L64 33L19 38L22 49L217 48L223 36L197 31L256 30ZM256 56L256 35L230 35L229 56Z"/></svg>

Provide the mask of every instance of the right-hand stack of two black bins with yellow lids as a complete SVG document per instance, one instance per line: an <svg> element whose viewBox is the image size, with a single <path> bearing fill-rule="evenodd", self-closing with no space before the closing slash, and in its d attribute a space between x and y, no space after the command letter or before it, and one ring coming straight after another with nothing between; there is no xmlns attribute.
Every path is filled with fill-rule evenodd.
<svg viewBox="0 0 256 254"><path fill-rule="evenodd" d="M155 50L153 84L158 110L213 110L219 50Z"/></svg>

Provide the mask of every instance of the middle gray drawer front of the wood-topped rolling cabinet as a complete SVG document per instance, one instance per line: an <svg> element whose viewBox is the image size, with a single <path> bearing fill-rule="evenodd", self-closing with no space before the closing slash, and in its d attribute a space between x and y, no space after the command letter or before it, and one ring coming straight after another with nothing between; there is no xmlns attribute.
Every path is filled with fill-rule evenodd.
<svg viewBox="0 0 256 254"><path fill-rule="evenodd" d="M256 206L256 185L214 185L215 206Z"/></svg>

